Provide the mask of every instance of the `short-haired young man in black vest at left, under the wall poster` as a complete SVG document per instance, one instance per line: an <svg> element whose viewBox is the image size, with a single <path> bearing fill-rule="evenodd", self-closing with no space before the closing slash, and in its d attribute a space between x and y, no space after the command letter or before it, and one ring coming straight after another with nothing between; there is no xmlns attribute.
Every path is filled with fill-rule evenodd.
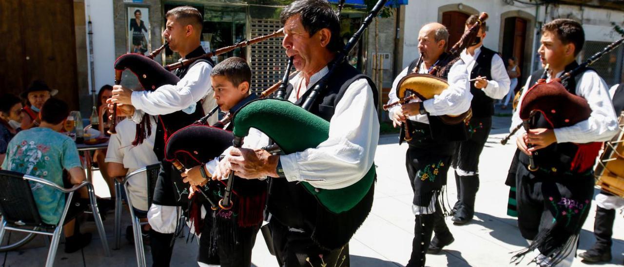
<svg viewBox="0 0 624 267"><path fill-rule="evenodd" d="M203 18L197 9L190 6L175 7L168 11L165 17L167 24L163 36L172 51L178 52L182 59L205 54L200 46ZM110 112L112 112L110 103L123 104L119 105L117 114L127 115L137 123L144 114L158 115L154 152L161 161L161 167L154 190L154 200L147 213L152 226L150 246L154 266L170 264L174 233L182 212L180 206L185 206L188 201L188 193L184 193L188 190L183 191L188 185L182 182L180 174L171 163L163 160L165 138L181 127L172 129L172 125L164 125L162 118L167 116L168 122L186 126L203 116L200 100L204 97L212 99L214 94L210 86L210 72L213 66L212 61L200 60L190 66L181 67L173 72L180 77L178 84L163 85L154 91L132 92L121 85L115 85L113 97L108 101Z"/></svg>

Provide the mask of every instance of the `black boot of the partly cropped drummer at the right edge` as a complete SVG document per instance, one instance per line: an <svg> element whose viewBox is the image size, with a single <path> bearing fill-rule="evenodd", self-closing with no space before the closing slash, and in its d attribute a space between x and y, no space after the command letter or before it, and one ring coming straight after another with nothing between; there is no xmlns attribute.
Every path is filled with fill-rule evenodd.
<svg viewBox="0 0 624 267"><path fill-rule="evenodd" d="M611 261L613 221L615 221L615 210L607 210L606 208L600 208L600 206L596 207L596 219L593 223L593 235L596 236L596 243L590 250L578 255L583 258L583 261L589 263L607 263Z"/></svg>

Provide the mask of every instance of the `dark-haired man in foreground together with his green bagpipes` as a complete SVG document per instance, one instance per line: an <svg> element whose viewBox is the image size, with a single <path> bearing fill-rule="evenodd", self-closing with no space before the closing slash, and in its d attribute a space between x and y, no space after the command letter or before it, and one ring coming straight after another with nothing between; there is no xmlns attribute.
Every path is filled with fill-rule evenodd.
<svg viewBox="0 0 624 267"><path fill-rule="evenodd" d="M373 202L373 159L379 138L377 90L369 77L341 57L357 40L343 44L339 17L329 2L295 1L283 9L280 19L285 31L283 47L300 70L286 90L290 102L251 101L236 112L233 134L242 138L240 127L246 125L245 119L251 113L265 112L255 117L263 125L254 127L273 139L283 154L233 147L212 178L229 178L232 172L248 179L271 177L267 220L281 266L349 266L348 241ZM321 84L326 87L316 94L315 86ZM318 97L306 105L313 94ZM302 125L291 122L295 120ZM317 133L308 127L323 130ZM280 129L277 134L275 129ZM324 140L308 148L289 149L319 136ZM253 138L246 136L243 142L253 142Z"/></svg>

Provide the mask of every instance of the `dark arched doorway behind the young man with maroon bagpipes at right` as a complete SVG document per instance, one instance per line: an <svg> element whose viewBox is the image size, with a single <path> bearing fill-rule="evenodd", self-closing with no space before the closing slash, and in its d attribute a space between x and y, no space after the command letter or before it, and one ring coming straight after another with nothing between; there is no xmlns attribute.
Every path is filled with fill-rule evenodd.
<svg viewBox="0 0 624 267"><path fill-rule="evenodd" d="M507 17L505 18L505 27L503 31L503 45L501 53L505 65L507 59L514 56L518 60L518 67L520 70L524 70L524 51L525 41L527 38L527 20L522 17ZM527 77L527 73L521 72L522 76L518 77L518 80L523 80L523 77ZM519 90L522 85L518 85L515 90Z"/></svg>

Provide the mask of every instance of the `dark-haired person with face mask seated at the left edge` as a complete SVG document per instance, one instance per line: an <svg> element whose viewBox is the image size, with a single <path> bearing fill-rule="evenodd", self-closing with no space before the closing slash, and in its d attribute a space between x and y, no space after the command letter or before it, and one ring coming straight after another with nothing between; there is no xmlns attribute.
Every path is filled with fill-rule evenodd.
<svg viewBox="0 0 624 267"><path fill-rule="evenodd" d="M22 102L12 94L0 96L0 165L4 161L7 144L21 129Z"/></svg>

